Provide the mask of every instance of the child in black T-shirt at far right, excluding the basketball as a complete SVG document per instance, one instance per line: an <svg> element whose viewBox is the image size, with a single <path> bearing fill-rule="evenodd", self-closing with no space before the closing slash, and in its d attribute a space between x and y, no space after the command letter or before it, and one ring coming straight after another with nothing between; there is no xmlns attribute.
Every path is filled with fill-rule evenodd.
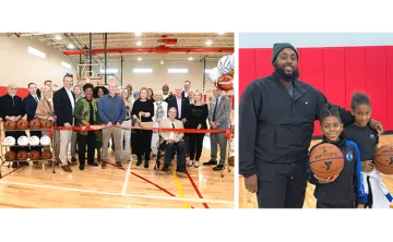
<svg viewBox="0 0 393 242"><path fill-rule="evenodd" d="M383 184L381 173L374 169L373 155L379 144L378 133L368 123L371 118L371 102L367 95L354 94L350 104L350 113L355 123L344 130L345 136L355 142L360 149L360 161L365 192L367 195L366 208L390 209L392 196Z"/></svg>

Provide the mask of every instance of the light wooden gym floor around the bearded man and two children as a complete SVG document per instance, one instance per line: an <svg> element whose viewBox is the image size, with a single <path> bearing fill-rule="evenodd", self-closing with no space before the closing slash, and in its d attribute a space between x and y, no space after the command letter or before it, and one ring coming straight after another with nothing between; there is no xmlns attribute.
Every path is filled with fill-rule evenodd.
<svg viewBox="0 0 393 242"><path fill-rule="evenodd" d="M311 142L311 146L320 141L315 140ZM393 144L393 135L382 135L380 138L380 145ZM382 174L383 182L388 190L393 193L393 177ZM246 190L245 179L241 176L237 176L238 183L238 209L258 209L258 202L255 194L252 194ZM303 209L314 209L315 198L313 196L314 185L308 184L306 191L306 199ZM392 207L392 206L391 206Z"/></svg>

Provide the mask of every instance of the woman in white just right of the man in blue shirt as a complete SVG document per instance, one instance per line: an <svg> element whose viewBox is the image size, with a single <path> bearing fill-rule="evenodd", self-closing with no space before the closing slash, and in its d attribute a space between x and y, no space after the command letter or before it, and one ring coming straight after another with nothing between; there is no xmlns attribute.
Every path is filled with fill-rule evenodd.
<svg viewBox="0 0 393 242"><path fill-rule="evenodd" d="M121 90L121 97L124 101L124 106L126 106L126 118L124 121L121 123L121 126L123 128L130 128L132 126L132 121L131 121L131 101L130 101L130 95L128 89L122 89ZM120 144L123 144L123 142L126 141L124 145L121 145L121 157L124 157L124 159L127 161L130 161L130 148L131 148L131 130L130 129L122 129L121 130L121 138L120 138Z"/></svg>

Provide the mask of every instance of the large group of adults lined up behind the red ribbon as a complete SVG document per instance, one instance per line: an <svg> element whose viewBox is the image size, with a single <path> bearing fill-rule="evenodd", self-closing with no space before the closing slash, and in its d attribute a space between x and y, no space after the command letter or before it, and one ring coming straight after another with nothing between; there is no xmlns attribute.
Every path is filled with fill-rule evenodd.
<svg viewBox="0 0 393 242"><path fill-rule="evenodd" d="M203 148L204 133L156 132L143 128L167 129L228 129L230 126L231 100L223 95L218 88L213 89L214 97L207 107L201 90L191 89L191 82L186 81L169 94L168 85L163 90L153 94L152 88L141 88L138 96L132 93L132 86L120 89L116 82L105 86L94 86L91 83L73 86L73 75L63 76L63 87L53 92L51 81L46 81L41 92L34 83L28 84L29 94L22 100L16 95L17 86L9 85L9 93L0 98L1 118L3 120L27 121L38 118L50 120L60 128L53 130L55 161L61 168L71 172L71 166L78 165L84 170L86 160L88 166L99 166L104 169L108 162L109 140L115 152L115 161L122 168L122 160L130 161L131 156L138 157L136 166L144 159L144 168L148 168L151 153L157 156L156 166L159 167L162 152L164 155L163 171L168 171L171 160L177 156L177 171L186 172L186 166L199 167ZM106 126L100 130L73 130L72 126ZM142 129L132 129L139 126ZM32 131L31 135L40 137L48 131ZM16 140L22 134L8 132ZM224 133L211 134L211 160L204 165L215 165L214 170L224 169L226 159L226 144ZM217 146L221 159L217 164ZM13 147L16 149L16 146ZM39 147L38 147L39 148ZM69 160L71 149L71 161ZM85 154L87 153L87 159ZM186 157L189 161L186 162ZM20 162L28 165L27 162ZM13 162L17 167L17 162Z"/></svg>

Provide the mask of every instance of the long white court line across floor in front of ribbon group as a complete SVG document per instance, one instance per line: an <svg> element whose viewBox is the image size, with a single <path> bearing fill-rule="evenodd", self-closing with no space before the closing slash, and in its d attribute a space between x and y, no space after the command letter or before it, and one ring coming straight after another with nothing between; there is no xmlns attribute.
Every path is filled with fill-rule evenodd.
<svg viewBox="0 0 393 242"><path fill-rule="evenodd" d="M38 184L29 184L23 182L12 182L12 181L2 181L0 180L0 184L13 184L21 186L31 186L31 187L40 187L40 189L51 189L51 190L60 190L60 191L69 191L69 192L81 192L81 193L91 193L91 194L102 194L102 195L115 195L115 196L128 196L128 197L140 197L140 198L152 198L152 199L167 199L167 201L187 201L187 202L195 202L195 203L216 203L216 204L235 204L235 202L230 201L213 201L213 199L201 199L201 198L186 198L186 197L177 197L177 196L148 196L148 195L139 195L139 194L122 194L122 193L112 193L112 192L100 192L100 191L92 191L92 190L82 190L82 189L70 189L70 187L59 187L52 185L38 185Z"/></svg>

